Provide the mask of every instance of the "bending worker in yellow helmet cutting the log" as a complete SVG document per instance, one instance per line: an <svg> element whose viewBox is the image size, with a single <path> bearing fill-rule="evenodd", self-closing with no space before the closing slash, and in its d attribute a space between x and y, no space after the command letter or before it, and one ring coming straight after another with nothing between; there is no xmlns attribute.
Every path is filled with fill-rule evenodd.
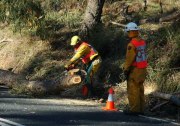
<svg viewBox="0 0 180 126"><path fill-rule="evenodd" d="M74 47L75 54L65 65L69 68L72 64L78 63L81 59L83 64L86 65L87 76L85 78L85 85L82 88L84 96L93 95L93 75L98 71L101 64L101 57L98 52L87 42L81 40L79 36L71 38L71 46Z"/></svg>

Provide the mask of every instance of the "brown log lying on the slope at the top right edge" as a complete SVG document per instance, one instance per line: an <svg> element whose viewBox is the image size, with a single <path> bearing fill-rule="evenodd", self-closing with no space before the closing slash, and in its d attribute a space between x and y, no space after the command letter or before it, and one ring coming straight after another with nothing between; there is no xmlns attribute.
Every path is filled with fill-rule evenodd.
<svg viewBox="0 0 180 126"><path fill-rule="evenodd" d="M180 10L178 10L178 11L176 11L176 12L174 12L168 16L160 18L159 22L168 22L168 21L172 21L175 19L180 19Z"/></svg>

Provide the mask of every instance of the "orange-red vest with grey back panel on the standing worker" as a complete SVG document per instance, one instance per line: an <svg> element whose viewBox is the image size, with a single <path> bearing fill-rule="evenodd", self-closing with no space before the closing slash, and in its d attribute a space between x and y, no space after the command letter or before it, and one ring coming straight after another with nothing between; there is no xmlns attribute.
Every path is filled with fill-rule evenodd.
<svg viewBox="0 0 180 126"><path fill-rule="evenodd" d="M132 39L131 43L136 47L136 57L132 66L137 68L146 68L147 67L147 58L146 58L146 43L144 40Z"/></svg>

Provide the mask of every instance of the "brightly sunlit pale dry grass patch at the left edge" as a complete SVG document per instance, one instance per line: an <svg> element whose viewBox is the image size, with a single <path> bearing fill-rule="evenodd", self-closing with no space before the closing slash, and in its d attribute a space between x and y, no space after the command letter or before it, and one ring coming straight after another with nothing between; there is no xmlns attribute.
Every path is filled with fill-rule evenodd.
<svg viewBox="0 0 180 126"><path fill-rule="evenodd" d="M6 41L0 43L0 68L10 69L16 73L25 69L31 60L39 53L47 51L49 46L41 40L30 41L28 36L13 34L11 29L3 29L0 31L0 38ZM11 41L8 41L11 40Z"/></svg>

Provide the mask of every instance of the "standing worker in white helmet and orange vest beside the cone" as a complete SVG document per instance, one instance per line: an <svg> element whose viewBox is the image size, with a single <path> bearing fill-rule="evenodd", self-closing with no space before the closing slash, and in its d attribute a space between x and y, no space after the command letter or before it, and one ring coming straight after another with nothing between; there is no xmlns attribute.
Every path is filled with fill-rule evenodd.
<svg viewBox="0 0 180 126"><path fill-rule="evenodd" d="M146 43L139 37L138 26L130 22L125 31L130 38L127 46L126 59L123 64L124 74L127 76L127 94L129 110L125 114L138 115L144 113L144 81L147 75Z"/></svg>

